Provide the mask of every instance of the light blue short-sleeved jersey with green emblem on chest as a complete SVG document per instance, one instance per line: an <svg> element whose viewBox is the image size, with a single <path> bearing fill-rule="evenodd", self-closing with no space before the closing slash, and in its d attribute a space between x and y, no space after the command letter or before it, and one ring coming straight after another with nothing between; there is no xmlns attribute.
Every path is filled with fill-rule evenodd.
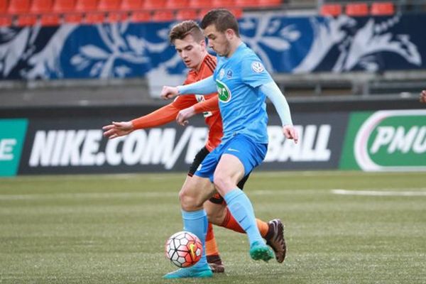
<svg viewBox="0 0 426 284"><path fill-rule="evenodd" d="M258 56L241 43L230 58L217 57L213 78L224 126L222 143L238 133L268 143L266 96L260 86L273 82Z"/></svg>

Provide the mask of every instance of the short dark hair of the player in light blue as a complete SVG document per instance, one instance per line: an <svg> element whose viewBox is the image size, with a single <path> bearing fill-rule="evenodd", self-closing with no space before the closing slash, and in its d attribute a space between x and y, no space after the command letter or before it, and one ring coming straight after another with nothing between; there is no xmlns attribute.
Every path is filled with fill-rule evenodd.
<svg viewBox="0 0 426 284"><path fill-rule="evenodd" d="M213 9L207 12L202 18L201 28L207 28L207 26L214 25L217 31L224 33L228 28L234 30L236 36L239 37L239 27L235 16L226 9Z"/></svg>

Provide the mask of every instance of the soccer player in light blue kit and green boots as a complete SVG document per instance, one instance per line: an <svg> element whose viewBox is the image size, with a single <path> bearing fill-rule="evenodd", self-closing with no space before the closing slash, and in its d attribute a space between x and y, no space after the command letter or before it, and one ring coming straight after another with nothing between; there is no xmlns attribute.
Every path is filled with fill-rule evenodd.
<svg viewBox="0 0 426 284"><path fill-rule="evenodd" d="M203 209L217 190L231 214L246 231L250 256L269 261L273 251L261 237L253 207L238 181L262 163L268 148L266 97L271 99L283 124L283 134L297 143L297 131L291 121L285 97L265 70L261 60L239 37L236 18L226 9L209 11L201 22L209 47L218 55L214 74L200 82L178 87L163 87L162 97L219 93L219 108L224 126L222 142L202 161L192 180L180 190L184 229L196 234L204 244L207 215ZM192 116L190 109L178 115L180 124ZM165 278L212 277L205 255L191 268L181 268Z"/></svg>

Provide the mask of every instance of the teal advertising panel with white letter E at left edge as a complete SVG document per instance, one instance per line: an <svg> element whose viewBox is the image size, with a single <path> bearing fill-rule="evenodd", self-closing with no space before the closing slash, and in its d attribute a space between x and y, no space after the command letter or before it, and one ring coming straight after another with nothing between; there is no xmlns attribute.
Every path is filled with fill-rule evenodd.
<svg viewBox="0 0 426 284"><path fill-rule="evenodd" d="M0 177L16 175L27 125L26 119L0 119Z"/></svg>

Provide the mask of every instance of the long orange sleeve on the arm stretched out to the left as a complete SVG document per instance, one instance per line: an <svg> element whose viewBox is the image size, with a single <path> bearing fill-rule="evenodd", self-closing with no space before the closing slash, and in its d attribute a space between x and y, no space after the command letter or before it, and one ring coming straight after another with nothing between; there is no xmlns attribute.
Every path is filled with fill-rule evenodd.
<svg viewBox="0 0 426 284"><path fill-rule="evenodd" d="M177 97L175 101L168 104L151 114L146 114L137 119L133 119L131 122L134 129L147 129L150 127L161 126L168 124L171 121L175 121L179 111L191 107L197 104L197 99L194 96Z"/></svg>

